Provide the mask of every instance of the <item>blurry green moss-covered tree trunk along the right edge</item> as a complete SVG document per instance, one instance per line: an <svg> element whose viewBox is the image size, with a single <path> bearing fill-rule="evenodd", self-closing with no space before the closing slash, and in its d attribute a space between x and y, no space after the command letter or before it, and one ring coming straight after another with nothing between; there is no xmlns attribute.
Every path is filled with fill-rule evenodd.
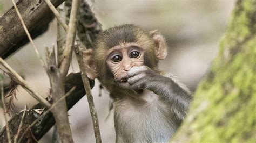
<svg viewBox="0 0 256 143"><path fill-rule="evenodd" d="M174 142L256 141L256 0L238 0Z"/></svg>

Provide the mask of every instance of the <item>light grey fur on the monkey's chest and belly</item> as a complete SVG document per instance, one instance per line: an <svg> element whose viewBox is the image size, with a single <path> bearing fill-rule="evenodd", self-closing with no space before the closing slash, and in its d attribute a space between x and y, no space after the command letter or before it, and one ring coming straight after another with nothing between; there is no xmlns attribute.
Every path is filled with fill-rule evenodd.
<svg viewBox="0 0 256 143"><path fill-rule="evenodd" d="M168 117L170 110L152 91L144 90L136 98L125 97L114 106L117 142L168 141L177 128Z"/></svg>

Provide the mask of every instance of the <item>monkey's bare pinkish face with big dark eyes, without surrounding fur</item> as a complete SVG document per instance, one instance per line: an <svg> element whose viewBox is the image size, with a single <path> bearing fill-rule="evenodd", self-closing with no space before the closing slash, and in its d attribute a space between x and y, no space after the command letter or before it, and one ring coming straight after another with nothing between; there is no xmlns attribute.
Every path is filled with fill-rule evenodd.
<svg viewBox="0 0 256 143"><path fill-rule="evenodd" d="M110 49L106 63L117 85L130 89L127 72L132 67L144 65L144 49L135 43L117 45Z"/></svg>

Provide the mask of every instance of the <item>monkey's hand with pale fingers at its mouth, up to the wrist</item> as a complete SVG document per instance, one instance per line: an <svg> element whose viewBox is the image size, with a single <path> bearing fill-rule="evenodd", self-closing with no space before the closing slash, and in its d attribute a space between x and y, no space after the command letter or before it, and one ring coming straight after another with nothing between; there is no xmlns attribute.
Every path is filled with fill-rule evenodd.
<svg viewBox="0 0 256 143"><path fill-rule="evenodd" d="M159 75L147 66L133 67L128 71L127 82L135 91L149 89L156 94L163 90L166 83L170 81L168 77Z"/></svg>

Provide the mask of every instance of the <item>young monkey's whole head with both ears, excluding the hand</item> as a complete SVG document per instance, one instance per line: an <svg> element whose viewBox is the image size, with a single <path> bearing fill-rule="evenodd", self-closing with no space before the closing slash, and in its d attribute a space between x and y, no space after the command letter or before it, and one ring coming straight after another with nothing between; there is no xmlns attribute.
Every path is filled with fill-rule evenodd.
<svg viewBox="0 0 256 143"><path fill-rule="evenodd" d="M95 48L83 52L89 78L98 78L109 89L116 85L131 89L128 71L145 65L157 69L158 60L167 55L164 37L157 31L147 33L132 24L109 28L98 35Z"/></svg>

